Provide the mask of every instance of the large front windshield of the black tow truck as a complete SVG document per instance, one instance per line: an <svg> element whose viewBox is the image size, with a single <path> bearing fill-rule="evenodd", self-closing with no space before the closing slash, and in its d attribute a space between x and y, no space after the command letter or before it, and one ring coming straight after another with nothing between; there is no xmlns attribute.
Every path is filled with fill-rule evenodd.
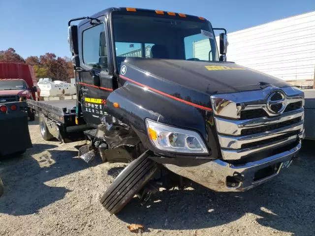
<svg viewBox="0 0 315 236"><path fill-rule="evenodd" d="M113 14L118 67L126 57L218 61L207 21Z"/></svg>

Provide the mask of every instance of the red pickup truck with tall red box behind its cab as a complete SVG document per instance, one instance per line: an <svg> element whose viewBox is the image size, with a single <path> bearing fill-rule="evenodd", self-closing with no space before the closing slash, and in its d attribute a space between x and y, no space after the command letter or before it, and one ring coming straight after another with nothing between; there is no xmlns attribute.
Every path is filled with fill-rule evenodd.
<svg viewBox="0 0 315 236"><path fill-rule="evenodd" d="M30 65L18 62L0 62L0 103L36 99L37 87L35 74ZM34 120L34 111L25 107L30 120Z"/></svg>

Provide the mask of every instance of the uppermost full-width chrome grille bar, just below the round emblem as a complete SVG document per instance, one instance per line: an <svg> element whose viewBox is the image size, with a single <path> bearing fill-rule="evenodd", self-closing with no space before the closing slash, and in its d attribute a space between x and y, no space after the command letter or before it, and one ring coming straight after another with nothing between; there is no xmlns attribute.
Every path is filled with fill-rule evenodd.
<svg viewBox="0 0 315 236"><path fill-rule="evenodd" d="M245 119L245 120L232 120L225 119L221 117L216 117L216 127L219 134L226 135L241 135L241 131L243 128L254 128L260 127L268 124L283 122L289 119L294 119L302 117L304 119L304 108L300 108L298 110L294 110L291 112L286 112L282 114L282 116L278 117L261 117L261 118L253 118L253 119Z"/></svg>

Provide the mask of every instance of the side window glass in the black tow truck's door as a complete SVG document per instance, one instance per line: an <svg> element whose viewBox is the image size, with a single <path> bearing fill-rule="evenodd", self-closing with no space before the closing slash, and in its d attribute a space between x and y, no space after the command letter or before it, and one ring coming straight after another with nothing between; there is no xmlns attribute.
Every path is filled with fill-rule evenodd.
<svg viewBox="0 0 315 236"><path fill-rule="evenodd" d="M83 62L94 67L107 69L107 49L104 24L83 31Z"/></svg>

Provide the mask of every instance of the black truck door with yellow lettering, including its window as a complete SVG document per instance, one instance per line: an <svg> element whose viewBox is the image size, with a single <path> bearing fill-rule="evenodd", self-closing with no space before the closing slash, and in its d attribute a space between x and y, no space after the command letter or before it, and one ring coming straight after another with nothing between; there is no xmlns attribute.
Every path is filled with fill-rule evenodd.
<svg viewBox="0 0 315 236"><path fill-rule="evenodd" d="M100 123L103 106L113 91L113 76L109 73L106 30L103 22L87 22L80 26L81 50L78 86L82 94L82 112L85 121L93 126ZM79 37L80 38L80 37Z"/></svg>

